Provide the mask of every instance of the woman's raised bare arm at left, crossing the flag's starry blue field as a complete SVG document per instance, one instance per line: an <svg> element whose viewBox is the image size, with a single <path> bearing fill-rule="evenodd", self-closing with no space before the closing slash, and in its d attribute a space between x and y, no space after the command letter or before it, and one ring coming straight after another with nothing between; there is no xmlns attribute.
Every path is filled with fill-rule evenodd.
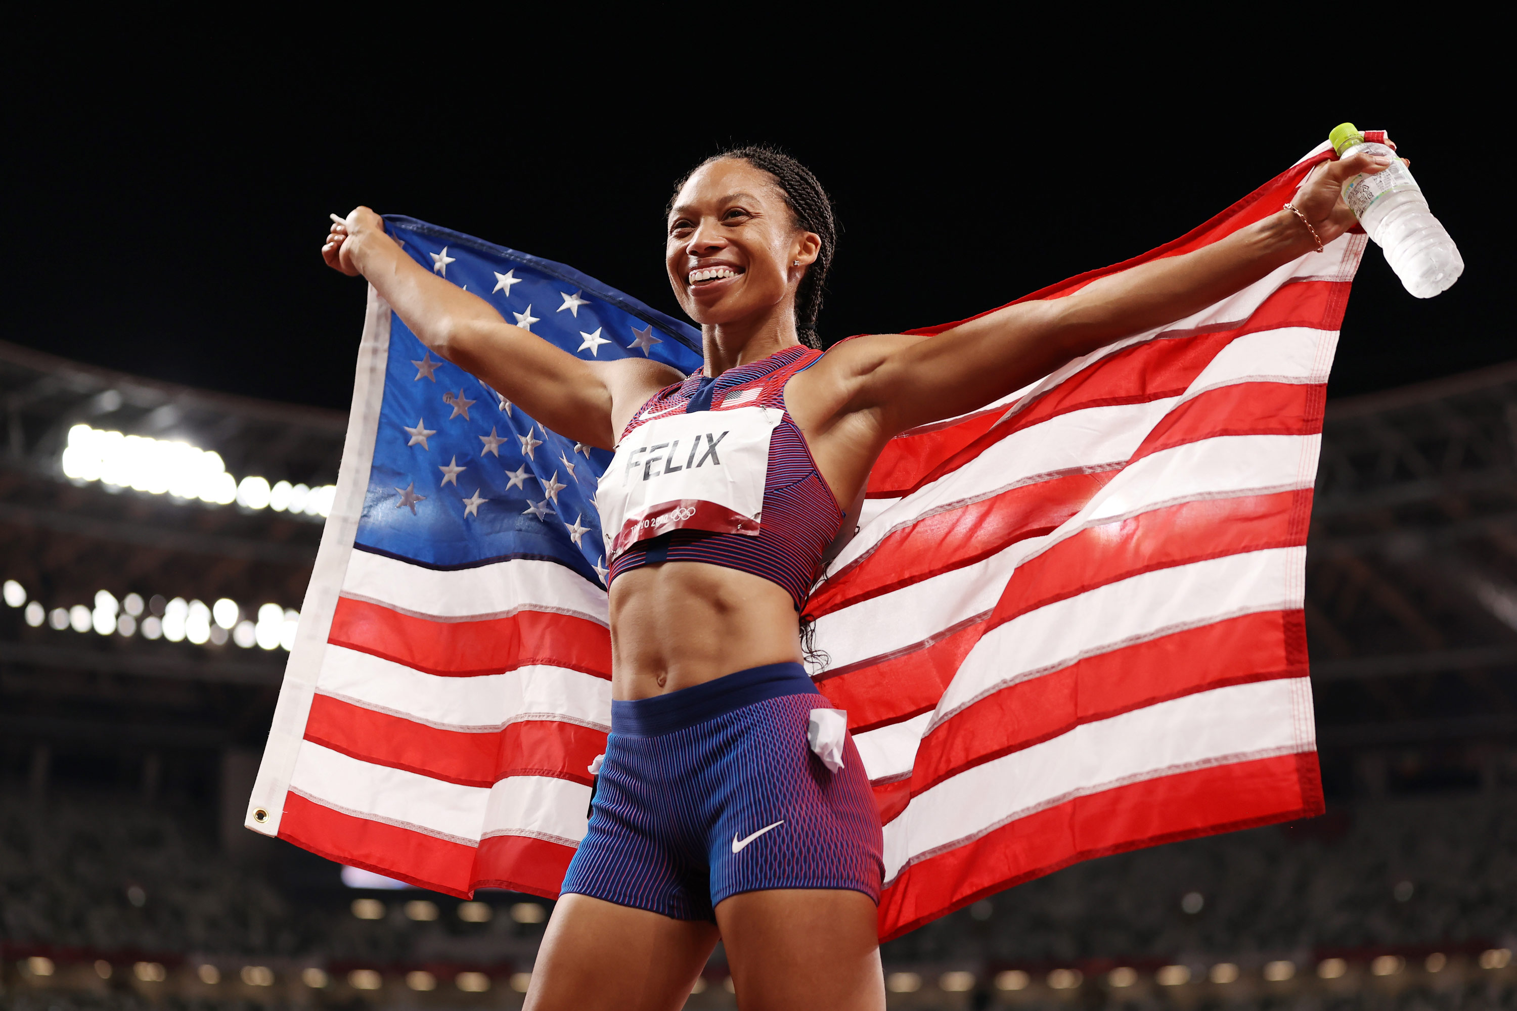
<svg viewBox="0 0 1517 1011"><path fill-rule="evenodd" d="M507 323L484 299L432 274L358 208L334 223L322 256L363 274L440 358L490 383L560 435L610 449L631 414L681 376L652 361L587 362ZM625 417L623 417L625 415Z"/></svg>

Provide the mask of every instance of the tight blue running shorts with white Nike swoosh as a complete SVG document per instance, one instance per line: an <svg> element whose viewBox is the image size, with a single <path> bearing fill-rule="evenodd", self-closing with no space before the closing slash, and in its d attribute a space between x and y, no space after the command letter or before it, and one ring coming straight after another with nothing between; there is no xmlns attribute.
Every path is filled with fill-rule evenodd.
<svg viewBox="0 0 1517 1011"><path fill-rule="evenodd" d="M677 920L728 896L848 888L880 900L880 814L853 740L828 772L806 740L830 708L801 664L611 703L590 829L563 894Z"/></svg>

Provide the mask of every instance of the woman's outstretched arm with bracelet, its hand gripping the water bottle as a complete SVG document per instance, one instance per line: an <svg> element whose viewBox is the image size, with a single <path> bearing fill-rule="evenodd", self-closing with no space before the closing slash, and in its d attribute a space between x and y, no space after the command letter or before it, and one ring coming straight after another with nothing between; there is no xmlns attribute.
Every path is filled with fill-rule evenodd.
<svg viewBox="0 0 1517 1011"><path fill-rule="evenodd" d="M1324 162L1297 191L1296 208L1323 243L1353 226L1341 186L1388 161L1368 155ZM1103 277L1063 299L1024 302L930 338L851 341L836 367L843 412L868 411L889 438L965 414L1112 341L1185 318L1315 249L1289 211L1183 256Z"/></svg>

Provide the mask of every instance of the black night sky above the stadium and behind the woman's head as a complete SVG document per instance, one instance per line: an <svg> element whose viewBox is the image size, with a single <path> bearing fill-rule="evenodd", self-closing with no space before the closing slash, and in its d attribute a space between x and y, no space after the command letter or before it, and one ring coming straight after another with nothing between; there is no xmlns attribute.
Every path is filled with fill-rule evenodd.
<svg viewBox="0 0 1517 1011"><path fill-rule="evenodd" d="M980 59L972 73L840 73L716 47L467 73L370 53L322 74L319 50L164 45L44 74L59 36L32 41L5 71L0 336L161 379L344 408L364 294L319 247L326 214L355 203L569 262L677 314L661 264L671 182L727 142L775 142L837 203L821 321L834 340L960 318L1141 253L1343 118L1391 130L1467 270L1420 302L1371 249L1332 394L1517 356L1496 311L1511 246L1481 220L1497 206L1478 183L1494 167L1471 173L1467 158L1494 109L1458 73L1435 88L1283 65L1129 61L1095 76L1094 56L1059 71Z"/></svg>

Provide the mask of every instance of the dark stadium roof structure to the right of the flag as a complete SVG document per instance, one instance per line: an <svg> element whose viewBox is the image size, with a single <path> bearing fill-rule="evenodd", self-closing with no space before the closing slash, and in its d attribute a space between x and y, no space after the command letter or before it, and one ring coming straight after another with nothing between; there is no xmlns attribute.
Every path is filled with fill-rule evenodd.
<svg viewBox="0 0 1517 1011"><path fill-rule="evenodd" d="M1330 400L1306 558L1324 746L1517 732L1517 362Z"/></svg>

